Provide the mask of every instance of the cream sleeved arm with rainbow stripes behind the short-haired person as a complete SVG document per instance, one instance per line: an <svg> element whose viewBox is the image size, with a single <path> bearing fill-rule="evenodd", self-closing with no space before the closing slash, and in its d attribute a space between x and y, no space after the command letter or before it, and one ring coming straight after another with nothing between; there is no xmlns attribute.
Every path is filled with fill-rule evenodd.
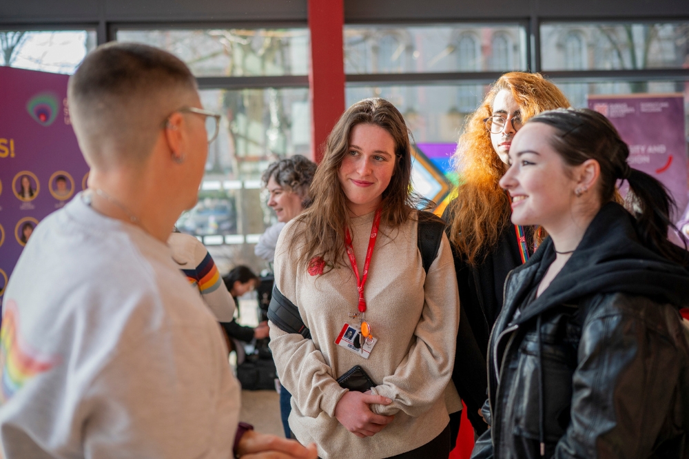
<svg viewBox="0 0 689 459"><path fill-rule="evenodd" d="M198 289L203 303L218 322L233 320L235 303L205 245L191 234L177 231L167 238L167 245L172 250L172 259L179 265L189 284Z"/></svg>

